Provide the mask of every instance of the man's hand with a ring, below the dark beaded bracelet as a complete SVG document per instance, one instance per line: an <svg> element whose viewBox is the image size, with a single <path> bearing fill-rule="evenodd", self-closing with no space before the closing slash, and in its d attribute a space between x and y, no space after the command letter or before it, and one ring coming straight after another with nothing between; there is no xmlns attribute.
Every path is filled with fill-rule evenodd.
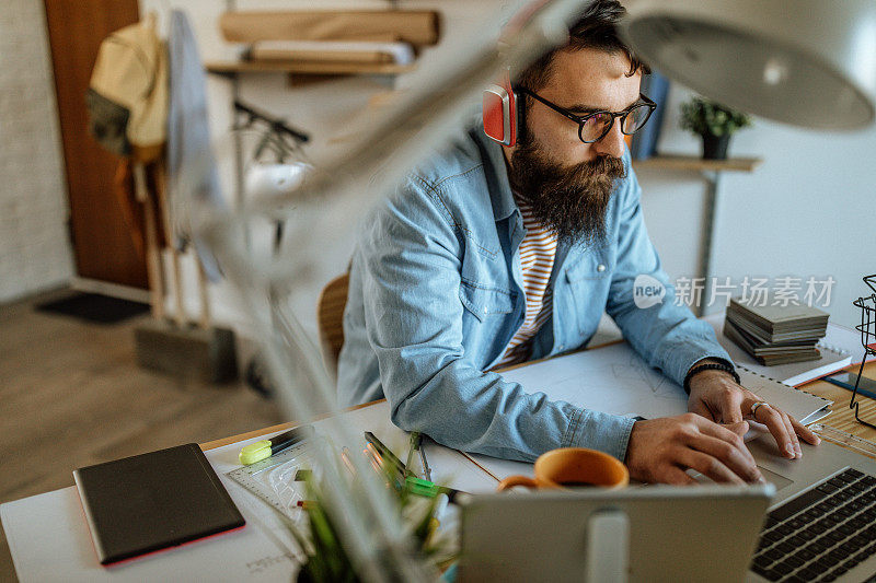
<svg viewBox="0 0 876 583"><path fill-rule="evenodd" d="M698 364L700 364L698 362ZM690 381L691 395L688 410L716 423L741 423L750 417L751 406L762 400L747 388L736 384L724 371L702 371ZM766 425L779 445L779 451L788 459L803 457L799 438L812 445L821 440L805 425L784 411L772 406L758 407L756 421Z"/></svg>

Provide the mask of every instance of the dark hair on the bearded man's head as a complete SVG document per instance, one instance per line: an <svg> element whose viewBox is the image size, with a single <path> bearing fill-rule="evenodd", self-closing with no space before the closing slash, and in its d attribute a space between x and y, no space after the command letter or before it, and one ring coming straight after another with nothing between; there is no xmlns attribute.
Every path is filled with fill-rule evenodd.
<svg viewBox="0 0 876 583"><path fill-rule="evenodd" d="M595 0L587 7L581 18L569 27L568 44L540 57L517 77L517 83L531 91L538 91L551 78L554 56L558 51L580 50L584 48L596 48L607 53L623 53L631 63L626 77L633 77L638 70L642 70L645 74L649 73L648 66L635 56L618 34L618 23L625 13L626 10L618 0ZM527 102L529 102L529 98L527 98Z"/></svg>

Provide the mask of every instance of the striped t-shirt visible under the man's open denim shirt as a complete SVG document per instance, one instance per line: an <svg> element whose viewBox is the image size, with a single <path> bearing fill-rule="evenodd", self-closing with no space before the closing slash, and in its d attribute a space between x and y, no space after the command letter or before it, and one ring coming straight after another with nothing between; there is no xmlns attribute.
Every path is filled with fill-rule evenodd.
<svg viewBox="0 0 876 583"><path fill-rule="evenodd" d="M515 196L527 234L520 243L520 264L523 275L523 291L527 296L527 314L523 324L514 335L497 366L509 366L529 358L530 340L553 312L553 293L548 289L556 257L556 234L540 224L532 207Z"/></svg>

